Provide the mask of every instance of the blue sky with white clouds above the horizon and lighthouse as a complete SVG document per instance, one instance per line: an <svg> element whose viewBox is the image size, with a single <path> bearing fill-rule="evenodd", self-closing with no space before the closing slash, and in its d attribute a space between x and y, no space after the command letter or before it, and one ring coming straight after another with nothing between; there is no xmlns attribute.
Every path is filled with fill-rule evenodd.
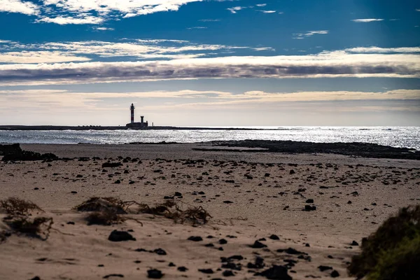
<svg viewBox="0 0 420 280"><path fill-rule="evenodd" d="M420 1L0 0L0 125L420 126Z"/></svg>

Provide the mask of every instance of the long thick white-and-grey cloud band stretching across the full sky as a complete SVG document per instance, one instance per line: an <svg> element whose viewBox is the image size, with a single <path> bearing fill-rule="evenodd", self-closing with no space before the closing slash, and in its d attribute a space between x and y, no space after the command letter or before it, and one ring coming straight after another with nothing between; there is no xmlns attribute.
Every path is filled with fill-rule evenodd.
<svg viewBox="0 0 420 280"><path fill-rule="evenodd" d="M81 62L0 65L7 84L97 83L197 78L420 78L415 54L351 54L211 57L148 62Z"/></svg>

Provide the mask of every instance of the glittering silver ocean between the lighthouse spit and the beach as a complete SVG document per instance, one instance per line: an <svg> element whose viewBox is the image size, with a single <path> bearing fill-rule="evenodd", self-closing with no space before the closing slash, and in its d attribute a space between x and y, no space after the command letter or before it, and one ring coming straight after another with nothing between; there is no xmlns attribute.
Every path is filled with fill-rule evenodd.
<svg viewBox="0 0 420 280"><path fill-rule="evenodd" d="M125 144L194 143L227 140L292 140L317 143L362 142L420 151L420 127L244 127L260 130L63 130L0 131L0 143Z"/></svg>

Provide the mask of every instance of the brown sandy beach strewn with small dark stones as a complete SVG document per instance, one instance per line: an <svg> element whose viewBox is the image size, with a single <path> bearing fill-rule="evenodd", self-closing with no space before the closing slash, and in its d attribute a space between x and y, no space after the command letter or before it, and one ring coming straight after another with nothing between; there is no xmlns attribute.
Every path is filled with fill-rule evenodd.
<svg viewBox="0 0 420 280"><path fill-rule="evenodd" d="M46 240L12 234L0 244L0 279L147 279L151 269L162 279L267 279L272 265L293 279L353 279L346 266L356 243L400 207L420 203L419 160L209 144L21 147L67 159L0 162L0 198L30 200L45 211L33 216L53 221ZM90 197L173 200L211 218L193 226L127 214L135 220L87 225L73 207ZM8 230L0 216L0 231ZM135 240L109 241L113 230Z"/></svg>

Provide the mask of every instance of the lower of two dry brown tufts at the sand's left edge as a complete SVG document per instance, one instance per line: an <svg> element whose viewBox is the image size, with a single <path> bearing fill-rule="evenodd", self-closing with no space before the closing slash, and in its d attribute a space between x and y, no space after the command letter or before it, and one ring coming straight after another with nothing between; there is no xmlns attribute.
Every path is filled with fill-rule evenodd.
<svg viewBox="0 0 420 280"><path fill-rule="evenodd" d="M15 232L46 240L50 235L52 218L27 216L9 216L3 220Z"/></svg>

